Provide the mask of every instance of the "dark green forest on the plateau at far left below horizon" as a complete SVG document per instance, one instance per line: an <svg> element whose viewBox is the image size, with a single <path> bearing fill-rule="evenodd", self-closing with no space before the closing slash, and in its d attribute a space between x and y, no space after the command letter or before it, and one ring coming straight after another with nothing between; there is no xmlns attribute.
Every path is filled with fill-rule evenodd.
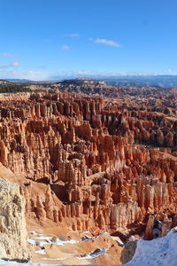
<svg viewBox="0 0 177 266"><path fill-rule="evenodd" d="M18 93L18 92L28 92L31 91L25 85L19 84L0 84L0 93Z"/></svg>

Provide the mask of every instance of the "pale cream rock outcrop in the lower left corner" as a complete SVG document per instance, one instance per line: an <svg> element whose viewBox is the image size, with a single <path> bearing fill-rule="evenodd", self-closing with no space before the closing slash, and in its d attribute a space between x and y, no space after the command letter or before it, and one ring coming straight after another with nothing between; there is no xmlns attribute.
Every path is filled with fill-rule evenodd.
<svg viewBox="0 0 177 266"><path fill-rule="evenodd" d="M25 199L19 185L0 179L0 257L27 261Z"/></svg>

